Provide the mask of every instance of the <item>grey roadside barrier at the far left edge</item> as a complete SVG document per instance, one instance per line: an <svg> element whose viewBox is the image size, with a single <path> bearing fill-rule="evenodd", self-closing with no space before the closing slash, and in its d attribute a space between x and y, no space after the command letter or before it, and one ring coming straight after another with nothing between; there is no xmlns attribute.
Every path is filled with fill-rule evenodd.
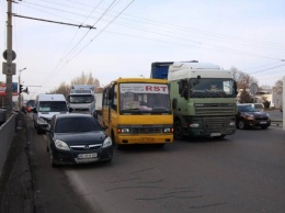
<svg viewBox="0 0 285 213"><path fill-rule="evenodd" d="M0 126L0 177L2 175L2 169L7 159L10 144L14 137L15 117L16 114L12 114L12 116Z"/></svg>

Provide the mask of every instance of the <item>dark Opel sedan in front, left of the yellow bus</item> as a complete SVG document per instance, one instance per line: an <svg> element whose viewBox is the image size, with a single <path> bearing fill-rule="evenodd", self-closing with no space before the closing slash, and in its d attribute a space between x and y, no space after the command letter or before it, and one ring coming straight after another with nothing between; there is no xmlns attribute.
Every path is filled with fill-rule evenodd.
<svg viewBox="0 0 285 213"><path fill-rule="evenodd" d="M89 114L55 114L47 127L50 165L111 161L112 139Z"/></svg>

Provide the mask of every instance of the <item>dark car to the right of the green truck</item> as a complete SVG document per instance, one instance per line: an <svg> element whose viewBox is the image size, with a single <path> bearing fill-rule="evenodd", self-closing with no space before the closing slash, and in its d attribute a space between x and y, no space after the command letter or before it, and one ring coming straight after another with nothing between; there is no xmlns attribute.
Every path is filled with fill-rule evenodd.
<svg viewBox="0 0 285 213"><path fill-rule="evenodd" d="M267 128L271 125L271 119L267 113L260 112L251 103L238 104L236 124L241 130L250 127Z"/></svg>

